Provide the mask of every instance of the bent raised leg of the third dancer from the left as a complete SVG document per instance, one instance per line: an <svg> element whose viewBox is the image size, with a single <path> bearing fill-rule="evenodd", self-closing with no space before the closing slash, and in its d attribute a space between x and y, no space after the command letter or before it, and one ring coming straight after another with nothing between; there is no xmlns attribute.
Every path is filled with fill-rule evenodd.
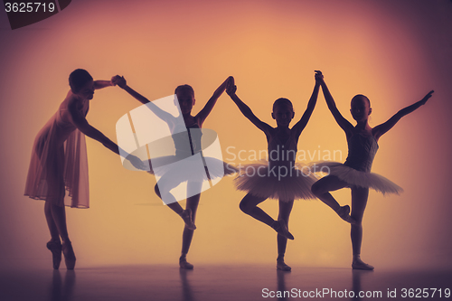
<svg viewBox="0 0 452 301"><path fill-rule="evenodd" d="M267 224L287 239L293 240L294 236L287 230L284 222L273 220L267 212L264 212L258 207L259 203L264 202L265 200L267 199L248 193L240 202L240 210L256 220Z"/></svg>

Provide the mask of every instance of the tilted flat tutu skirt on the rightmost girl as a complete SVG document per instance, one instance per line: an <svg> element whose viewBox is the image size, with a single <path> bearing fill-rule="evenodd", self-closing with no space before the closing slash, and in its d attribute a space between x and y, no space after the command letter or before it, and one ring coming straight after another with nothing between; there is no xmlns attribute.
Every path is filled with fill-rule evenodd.
<svg viewBox="0 0 452 301"><path fill-rule="evenodd" d="M371 188L383 194L400 194L403 192L403 189L398 184L391 182L380 174L361 172L339 162L315 162L309 166L313 173L322 172L335 175L350 185Z"/></svg>

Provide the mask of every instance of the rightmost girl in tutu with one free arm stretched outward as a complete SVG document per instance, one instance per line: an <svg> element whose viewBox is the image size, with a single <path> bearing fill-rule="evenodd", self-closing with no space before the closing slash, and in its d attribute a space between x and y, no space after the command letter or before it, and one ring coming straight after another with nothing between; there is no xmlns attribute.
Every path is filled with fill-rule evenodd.
<svg viewBox="0 0 452 301"><path fill-rule="evenodd" d="M321 162L311 165L311 170L329 174L312 186L312 192L330 206L344 221L352 224L351 237L353 246L354 269L373 269L361 259L361 244L363 241L363 214L367 204L369 188L380 193L400 193L402 189L395 183L379 174L371 173L372 161L378 149L378 139L389 131L391 127L407 114L424 105L433 91L413 105L400 109L397 114L377 127L370 127L368 118L372 113L371 102L363 95L356 95L352 99L351 109L356 126L345 119L336 108L334 99L326 87L323 76L320 75L321 86L324 91L328 108L339 127L344 129L348 143L348 156L344 164L337 162ZM348 205L340 206L334 200L331 191L349 187L352 189L352 214Z"/></svg>

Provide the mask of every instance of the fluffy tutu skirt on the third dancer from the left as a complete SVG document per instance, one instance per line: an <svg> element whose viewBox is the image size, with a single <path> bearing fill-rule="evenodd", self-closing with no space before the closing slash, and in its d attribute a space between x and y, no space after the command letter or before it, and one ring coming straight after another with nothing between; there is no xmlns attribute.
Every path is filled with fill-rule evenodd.
<svg viewBox="0 0 452 301"><path fill-rule="evenodd" d="M311 186L317 179L314 174L306 173L308 166L296 164L291 169L284 167L269 168L266 160L240 166L240 174L234 179L235 186L240 191L283 202L315 199Z"/></svg>

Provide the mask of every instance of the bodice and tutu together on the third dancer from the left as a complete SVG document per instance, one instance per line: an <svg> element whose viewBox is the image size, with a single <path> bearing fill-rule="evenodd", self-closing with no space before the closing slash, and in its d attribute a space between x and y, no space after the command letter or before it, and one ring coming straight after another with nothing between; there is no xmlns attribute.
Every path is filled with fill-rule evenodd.
<svg viewBox="0 0 452 301"><path fill-rule="evenodd" d="M271 136L268 161L241 166L234 183L240 191L283 202L315 199L311 186L317 179L307 165L295 162L296 156L297 139L292 131L284 143L278 136Z"/></svg>

